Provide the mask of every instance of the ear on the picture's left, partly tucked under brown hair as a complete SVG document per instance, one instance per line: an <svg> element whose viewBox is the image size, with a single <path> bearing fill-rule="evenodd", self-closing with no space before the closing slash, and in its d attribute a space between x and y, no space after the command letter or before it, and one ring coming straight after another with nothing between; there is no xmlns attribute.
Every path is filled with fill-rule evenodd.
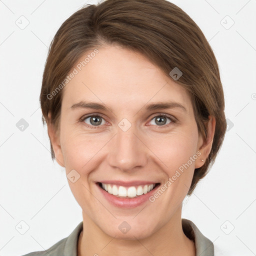
<svg viewBox="0 0 256 256"><path fill-rule="evenodd" d="M50 142L55 154L55 159L60 166L65 167L64 158L63 158L63 154L60 146L59 130L56 131L53 124L51 123L50 113L48 113L48 120L49 120L47 121L48 136L50 138Z"/></svg>

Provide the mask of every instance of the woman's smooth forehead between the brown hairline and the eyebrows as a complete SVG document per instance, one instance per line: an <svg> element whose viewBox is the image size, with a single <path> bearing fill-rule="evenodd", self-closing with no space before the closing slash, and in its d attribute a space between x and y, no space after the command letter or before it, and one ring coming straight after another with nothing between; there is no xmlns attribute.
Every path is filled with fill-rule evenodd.
<svg viewBox="0 0 256 256"><path fill-rule="evenodd" d="M191 107L187 91L144 55L109 45L98 48L93 57L88 57L90 52L77 61L73 67L77 73L64 87L62 104L66 107L82 100L134 110L147 102L170 100Z"/></svg>

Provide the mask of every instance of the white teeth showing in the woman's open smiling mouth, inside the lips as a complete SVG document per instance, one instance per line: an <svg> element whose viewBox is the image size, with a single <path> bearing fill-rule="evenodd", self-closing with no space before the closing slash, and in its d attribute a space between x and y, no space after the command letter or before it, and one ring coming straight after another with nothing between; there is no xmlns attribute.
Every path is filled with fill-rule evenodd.
<svg viewBox="0 0 256 256"><path fill-rule="evenodd" d="M151 190L155 189L160 185L160 183L151 183L144 185L136 185L136 186L121 186L115 184L107 184L96 182L96 184L109 194L115 195L116 197L121 198L135 198L142 194L146 194Z"/></svg>

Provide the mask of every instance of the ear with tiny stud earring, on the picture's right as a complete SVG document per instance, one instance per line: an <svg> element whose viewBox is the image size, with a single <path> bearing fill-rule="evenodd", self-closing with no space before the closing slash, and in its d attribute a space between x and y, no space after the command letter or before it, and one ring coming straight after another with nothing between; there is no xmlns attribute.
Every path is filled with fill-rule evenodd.
<svg viewBox="0 0 256 256"><path fill-rule="evenodd" d="M197 151L200 151L201 154L195 160L195 168L199 168L204 164L205 159L208 157L210 150L211 150L214 132L215 132L216 119L214 116L210 116L210 115L208 118L209 119L206 123L206 128L207 128L206 140L203 140L202 135L199 134L198 143L197 143Z"/></svg>

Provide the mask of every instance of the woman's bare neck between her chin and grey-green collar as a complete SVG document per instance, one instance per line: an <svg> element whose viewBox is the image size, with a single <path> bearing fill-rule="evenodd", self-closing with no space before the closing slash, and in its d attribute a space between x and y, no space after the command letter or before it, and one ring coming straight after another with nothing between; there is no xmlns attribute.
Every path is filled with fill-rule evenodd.
<svg viewBox="0 0 256 256"><path fill-rule="evenodd" d="M83 230L77 245L77 256L195 256L195 245L184 234L181 206L167 223L152 235L132 240L116 239L104 233L83 213Z"/></svg>

